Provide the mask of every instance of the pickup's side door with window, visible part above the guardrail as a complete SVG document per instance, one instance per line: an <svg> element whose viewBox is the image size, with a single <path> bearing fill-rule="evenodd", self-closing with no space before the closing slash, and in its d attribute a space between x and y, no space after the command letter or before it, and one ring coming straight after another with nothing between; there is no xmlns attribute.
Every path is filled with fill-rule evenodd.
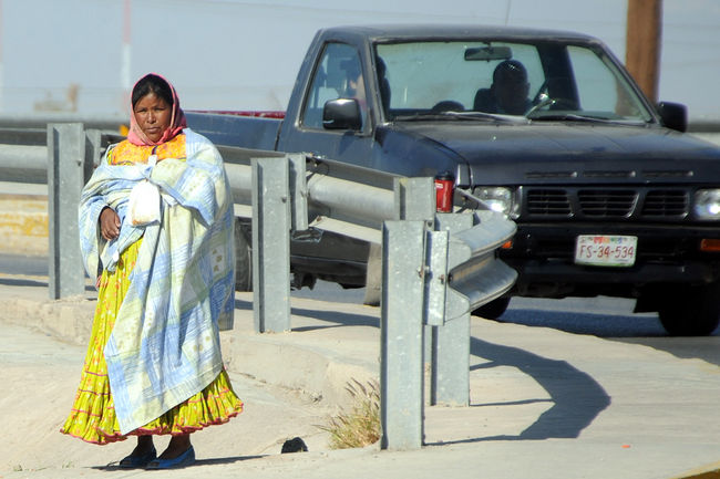
<svg viewBox="0 0 720 479"><path fill-rule="evenodd" d="M372 127L367 98L366 72L360 54L347 43L326 44L315 66L299 117L285 138L281 150L309 152L317 156L356 165L370 165ZM331 100L349 98L358 103L361 115L359 128L328 129L322 112Z"/></svg>

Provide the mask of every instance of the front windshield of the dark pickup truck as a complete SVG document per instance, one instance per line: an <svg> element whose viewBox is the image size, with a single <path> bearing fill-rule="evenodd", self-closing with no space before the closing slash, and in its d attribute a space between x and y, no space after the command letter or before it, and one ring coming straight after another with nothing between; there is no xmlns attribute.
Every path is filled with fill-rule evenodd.
<svg viewBox="0 0 720 479"><path fill-rule="evenodd" d="M376 53L389 121L654 118L613 60L587 45L423 41L380 43Z"/></svg>

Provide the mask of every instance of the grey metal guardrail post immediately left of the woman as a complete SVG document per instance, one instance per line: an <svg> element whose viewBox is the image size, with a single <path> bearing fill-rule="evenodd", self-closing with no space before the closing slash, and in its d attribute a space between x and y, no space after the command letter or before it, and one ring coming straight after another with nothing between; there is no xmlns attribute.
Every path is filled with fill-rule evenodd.
<svg viewBox="0 0 720 479"><path fill-rule="evenodd" d="M82 123L48 125L49 282L53 300L85 292L78 205L85 183Z"/></svg>

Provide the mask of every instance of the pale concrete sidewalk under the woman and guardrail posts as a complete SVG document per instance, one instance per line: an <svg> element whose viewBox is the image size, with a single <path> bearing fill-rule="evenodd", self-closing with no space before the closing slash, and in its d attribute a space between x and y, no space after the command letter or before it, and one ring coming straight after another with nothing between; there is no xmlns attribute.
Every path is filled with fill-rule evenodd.
<svg viewBox="0 0 720 479"><path fill-rule="evenodd" d="M146 473L104 467L110 460L103 458L117 459L131 446L84 445L53 424L64 418L76 387L92 293L49 301L42 279L0 275L0 302L7 428L0 455L35 457L7 430L14 439L38 427L43 434L29 434L25 449L44 447L54 458L42 462L38 452L32 467L2 457L0 477ZM312 424L349 406L349 381L377 378L379 310L294 299L292 332L260 335L253 332L251 308L251 294L238 293L236 327L223 333L246 412L197 435L195 466L153 477L686 478L720 468L720 367L642 345L480 319L471 331L471 406L426 407L422 449L330 450ZM11 372L27 381L9 386ZM43 410L33 403L44 400L52 418L37 417ZM278 441L296 433L310 451L280 455Z"/></svg>

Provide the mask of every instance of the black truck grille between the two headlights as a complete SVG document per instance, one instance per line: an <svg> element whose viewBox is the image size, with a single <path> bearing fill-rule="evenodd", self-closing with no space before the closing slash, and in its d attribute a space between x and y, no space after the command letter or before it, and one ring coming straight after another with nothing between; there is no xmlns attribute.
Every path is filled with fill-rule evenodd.
<svg viewBox="0 0 720 479"><path fill-rule="evenodd" d="M688 215L689 195L681 189L526 188L529 217L594 219L678 219Z"/></svg>

